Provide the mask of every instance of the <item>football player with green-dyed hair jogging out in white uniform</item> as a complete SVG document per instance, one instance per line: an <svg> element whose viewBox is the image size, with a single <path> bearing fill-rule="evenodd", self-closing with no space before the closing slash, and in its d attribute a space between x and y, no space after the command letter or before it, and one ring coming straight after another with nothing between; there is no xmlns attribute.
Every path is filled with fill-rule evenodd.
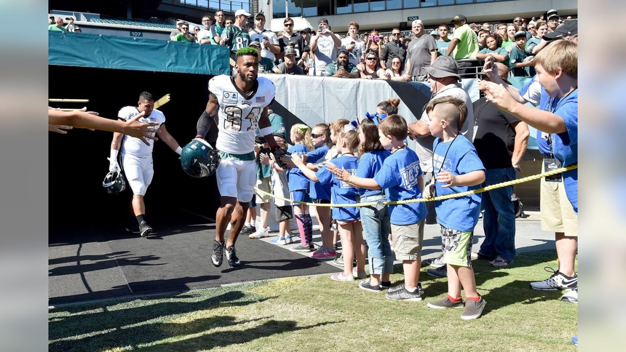
<svg viewBox="0 0 626 352"><path fill-rule="evenodd" d="M235 241L244 227L245 213L257 181L254 159L257 127L270 145L270 150L280 153L267 113L267 106L276 93L274 83L264 77L257 78L259 58L255 49L239 49L235 58L237 74L234 77L221 75L209 81L210 97L197 125L197 137L204 138L211 125L217 124L216 147L222 157L215 172L221 196L220 208L215 215L217 229L211 253L211 261L216 267L222 265L224 250L229 266L238 267L241 264ZM224 243L228 222L230 234Z"/></svg>

